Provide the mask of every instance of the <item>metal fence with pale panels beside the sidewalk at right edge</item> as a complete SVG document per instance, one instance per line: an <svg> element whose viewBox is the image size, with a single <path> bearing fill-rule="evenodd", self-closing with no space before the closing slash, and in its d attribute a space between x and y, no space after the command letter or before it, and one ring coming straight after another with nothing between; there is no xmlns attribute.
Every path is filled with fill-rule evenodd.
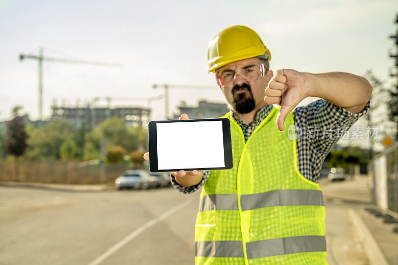
<svg viewBox="0 0 398 265"><path fill-rule="evenodd" d="M398 143L375 156L368 165L371 203L398 219Z"/></svg>

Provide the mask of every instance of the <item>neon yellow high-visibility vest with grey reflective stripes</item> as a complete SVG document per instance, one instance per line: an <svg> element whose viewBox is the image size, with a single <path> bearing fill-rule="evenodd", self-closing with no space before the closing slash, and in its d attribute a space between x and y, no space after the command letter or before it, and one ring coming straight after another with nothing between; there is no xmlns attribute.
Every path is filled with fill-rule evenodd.
<svg viewBox="0 0 398 265"><path fill-rule="evenodd" d="M279 131L274 107L245 143L230 120L233 169L210 172L195 223L196 265L328 264L325 206L318 183L297 166L288 137L293 111Z"/></svg>

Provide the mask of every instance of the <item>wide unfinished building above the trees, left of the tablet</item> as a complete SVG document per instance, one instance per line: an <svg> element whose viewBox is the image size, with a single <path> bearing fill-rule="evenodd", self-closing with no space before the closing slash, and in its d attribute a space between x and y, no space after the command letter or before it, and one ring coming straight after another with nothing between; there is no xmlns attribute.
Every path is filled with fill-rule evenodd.
<svg viewBox="0 0 398 265"><path fill-rule="evenodd" d="M69 120L73 123L75 128L81 126L83 122L90 125L91 128L96 127L98 124L106 119L112 117L122 117L126 121L127 126L141 125L144 128L148 127L148 122L151 115L151 109L145 107L92 107L87 104L82 106L51 106L52 113L50 120Z"/></svg>

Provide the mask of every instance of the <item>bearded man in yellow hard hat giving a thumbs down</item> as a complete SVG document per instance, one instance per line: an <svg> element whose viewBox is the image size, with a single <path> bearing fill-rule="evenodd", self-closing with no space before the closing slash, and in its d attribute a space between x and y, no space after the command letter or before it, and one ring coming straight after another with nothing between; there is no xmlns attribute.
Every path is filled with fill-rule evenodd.
<svg viewBox="0 0 398 265"><path fill-rule="evenodd" d="M341 130L366 113L372 87L348 73L273 72L270 60L245 26L228 27L209 44L208 71L231 105L223 117L234 167L171 173L183 193L203 186L195 264L327 264L319 171ZM295 108L308 96L322 99Z"/></svg>

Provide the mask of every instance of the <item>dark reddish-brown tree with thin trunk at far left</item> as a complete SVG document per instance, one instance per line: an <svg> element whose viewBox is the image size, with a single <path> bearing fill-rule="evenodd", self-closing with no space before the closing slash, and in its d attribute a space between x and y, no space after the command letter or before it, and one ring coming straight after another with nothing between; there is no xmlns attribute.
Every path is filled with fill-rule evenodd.
<svg viewBox="0 0 398 265"><path fill-rule="evenodd" d="M28 136L25 132L25 124L22 117L17 116L7 122L6 137L4 150L7 154L15 156L14 179L16 180L19 179L18 158L25 153L28 147L26 143Z"/></svg>

